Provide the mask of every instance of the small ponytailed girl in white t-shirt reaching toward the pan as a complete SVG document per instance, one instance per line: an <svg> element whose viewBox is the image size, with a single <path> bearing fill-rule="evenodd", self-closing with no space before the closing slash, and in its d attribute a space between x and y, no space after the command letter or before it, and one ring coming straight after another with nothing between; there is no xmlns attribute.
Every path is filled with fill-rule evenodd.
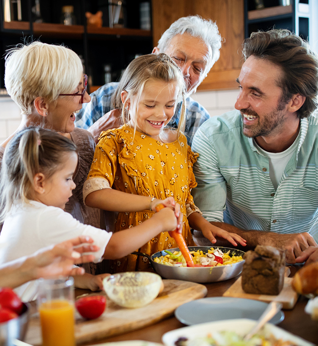
<svg viewBox="0 0 318 346"><path fill-rule="evenodd" d="M0 173L0 264L78 236L90 236L100 250L95 262L128 255L160 232L172 231L182 222L180 206L173 201L153 218L132 230L116 234L81 224L63 211L72 196L78 164L76 145L56 132L27 128L6 146ZM180 215L181 214L181 215ZM176 218L178 217L178 220ZM107 274L75 276L79 288L96 290ZM33 300L37 282L17 288L23 301Z"/></svg>

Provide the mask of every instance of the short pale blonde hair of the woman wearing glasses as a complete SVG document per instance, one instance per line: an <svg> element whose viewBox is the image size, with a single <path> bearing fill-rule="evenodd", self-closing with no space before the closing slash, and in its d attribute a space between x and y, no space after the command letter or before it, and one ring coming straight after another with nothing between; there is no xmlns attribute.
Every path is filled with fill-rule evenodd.
<svg viewBox="0 0 318 346"><path fill-rule="evenodd" d="M64 46L37 41L17 45L5 56L5 87L26 115L32 113L36 97L50 104L59 94L74 92L82 73L78 55Z"/></svg>

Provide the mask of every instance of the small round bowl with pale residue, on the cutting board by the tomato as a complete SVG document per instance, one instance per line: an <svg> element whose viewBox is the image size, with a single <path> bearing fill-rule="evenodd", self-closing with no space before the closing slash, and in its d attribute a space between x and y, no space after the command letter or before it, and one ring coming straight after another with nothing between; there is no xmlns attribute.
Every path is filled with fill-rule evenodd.
<svg viewBox="0 0 318 346"><path fill-rule="evenodd" d="M144 271L127 271L105 277L104 289L113 302L124 308L140 308L159 293L161 277Z"/></svg>

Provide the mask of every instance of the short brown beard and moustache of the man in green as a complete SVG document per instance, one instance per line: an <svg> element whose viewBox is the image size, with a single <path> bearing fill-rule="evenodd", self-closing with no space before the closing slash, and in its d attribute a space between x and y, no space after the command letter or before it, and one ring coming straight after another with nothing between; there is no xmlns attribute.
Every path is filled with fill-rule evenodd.
<svg viewBox="0 0 318 346"><path fill-rule="evenodd" d="M262 123L259 122L259 115L250 109L240 109L242 120L244 119L243 114L256 116L258 118L258 124L245 125L243 123L243 135L246 137L258 137L258 136L269 136L278 133L283 127L284 113L286 103L279 101L278 106L271 113L266 114L262 117ZM247 132L247 131L248 132Z"/></svg>

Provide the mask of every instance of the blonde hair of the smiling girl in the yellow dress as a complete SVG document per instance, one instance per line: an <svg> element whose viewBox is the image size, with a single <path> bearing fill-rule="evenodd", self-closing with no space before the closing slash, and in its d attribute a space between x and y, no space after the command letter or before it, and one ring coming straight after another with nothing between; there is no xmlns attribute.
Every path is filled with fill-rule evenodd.
<svg viewBox="0 0 318 346"><path fill-rule="evenodd" d="M112 96L113 107L121 109L123 123L127 124L130 120L130 112L125 109L126 103L130 98L137 97L137 107L148 81L175 83L176 86L179 87L177 103L182 102L177 129L177 138L179 138L180 131L184 131L185 126L186 87L180 69L177 67L175 62L164 53L143 55L134 59L128 65L126 70L123 72L115 93ZM127 98L124 104L121 100L121 92L123 90L127 91Z"/></svg>

